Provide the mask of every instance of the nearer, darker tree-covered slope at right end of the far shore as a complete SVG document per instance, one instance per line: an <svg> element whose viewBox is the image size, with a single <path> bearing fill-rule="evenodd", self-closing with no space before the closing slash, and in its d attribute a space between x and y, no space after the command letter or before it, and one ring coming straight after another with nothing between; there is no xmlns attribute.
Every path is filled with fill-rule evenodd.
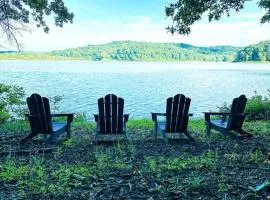
<svg viewBox="0 0 270 200"><path fill-rule="evenodd" d="M270 40L245 47L237 53L235 61L270 61Z"/></svg>

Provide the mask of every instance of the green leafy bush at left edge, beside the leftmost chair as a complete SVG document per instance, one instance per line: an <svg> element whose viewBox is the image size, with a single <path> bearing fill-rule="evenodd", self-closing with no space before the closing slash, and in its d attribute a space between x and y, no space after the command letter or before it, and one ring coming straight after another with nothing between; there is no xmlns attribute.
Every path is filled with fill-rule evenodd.
<svg viewBox="0 0 270 200"><path fill-rule="evenodd" d="M20 117L24 96L22 87L0 83L0 124L11 119L13 115Z"/></svg>

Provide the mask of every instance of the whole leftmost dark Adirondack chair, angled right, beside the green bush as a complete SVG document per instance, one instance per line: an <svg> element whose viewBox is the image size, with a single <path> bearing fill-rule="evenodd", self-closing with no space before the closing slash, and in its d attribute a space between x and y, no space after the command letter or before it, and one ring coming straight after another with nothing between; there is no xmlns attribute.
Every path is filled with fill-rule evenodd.
<svg viewBox="0 0 270 200"><path fill-rule="evenodd" d="M26 114L26 117L31 126L31 133L23 138L21 143L38 134L44 134L44 137L49 136L46 143L53 141L64 132L67 132L67 137L70 138L73 114L51 114L49 100L39 94L32 94L28 97L27 105L30 114ZM53 122L54 117L66 117L67 120L64 123Z"/></svg>

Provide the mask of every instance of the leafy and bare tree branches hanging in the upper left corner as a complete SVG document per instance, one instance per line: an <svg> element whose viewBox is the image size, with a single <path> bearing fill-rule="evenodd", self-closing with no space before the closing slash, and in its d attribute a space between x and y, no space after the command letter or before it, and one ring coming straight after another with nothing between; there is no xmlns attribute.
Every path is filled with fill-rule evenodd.
<svg viewBox="0 0 270 200"><path fill-rule="evenodd" d="M0 0L0 31L8 42L20 49L17 34L30 31L27 24L31 21L48 33L45 18L49 15L54 15L54 22L58 27L63 27L64 23L72 23L74 17L63 0Z"/></svg>

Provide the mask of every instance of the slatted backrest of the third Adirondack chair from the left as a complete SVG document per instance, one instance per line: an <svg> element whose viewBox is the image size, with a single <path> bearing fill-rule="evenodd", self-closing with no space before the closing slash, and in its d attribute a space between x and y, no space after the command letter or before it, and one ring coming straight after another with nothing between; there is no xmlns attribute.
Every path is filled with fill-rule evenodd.
<svg viewBox="0 0 270 200"><path fill-rule="evenodd" d="M187 130L190 98L177 94L167 99L166 132L177 133Z"/></svg>

